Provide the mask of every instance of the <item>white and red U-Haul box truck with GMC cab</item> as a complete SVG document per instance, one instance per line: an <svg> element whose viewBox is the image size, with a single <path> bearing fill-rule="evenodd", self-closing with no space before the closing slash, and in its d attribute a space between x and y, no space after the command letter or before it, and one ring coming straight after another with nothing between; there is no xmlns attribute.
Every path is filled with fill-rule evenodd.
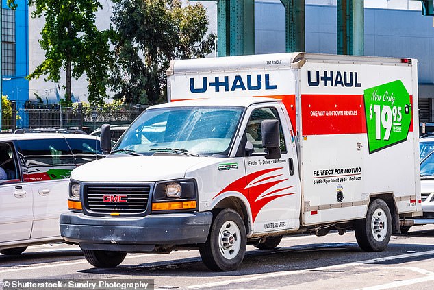
<svg viewBox="0 0 434 290"><path fill-rule="evenodd" d="M170 102L142 113L107 158L71 173L62 237L97 267L127 252L199 248L209 269L230 271L246 245L332 229L382 251L400 219L421 215L416 62L174 61Z"/></svg>

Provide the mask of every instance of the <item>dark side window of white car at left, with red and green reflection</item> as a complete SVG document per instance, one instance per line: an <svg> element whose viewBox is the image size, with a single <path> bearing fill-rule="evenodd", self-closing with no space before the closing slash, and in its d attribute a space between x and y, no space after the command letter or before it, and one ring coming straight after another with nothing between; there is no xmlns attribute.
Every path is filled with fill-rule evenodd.
<svg viewBox="0 0 434 290"><path fill-rule="evenodd" d="M64 138L19 140L25 182L69 178L75 160Z"/></svg>

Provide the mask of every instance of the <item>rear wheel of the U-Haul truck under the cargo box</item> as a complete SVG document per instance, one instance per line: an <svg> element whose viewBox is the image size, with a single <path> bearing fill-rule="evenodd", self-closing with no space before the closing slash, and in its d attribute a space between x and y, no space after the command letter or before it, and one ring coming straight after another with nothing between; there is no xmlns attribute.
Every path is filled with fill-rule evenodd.
<svg viewBox="0 0 434 290"><path fill-rule="evenodd" d="M365 219L359 219L354 226L359 247L366 252L385 250L392 234L392 217L384 200L373 200L368 206Z"/></svg>

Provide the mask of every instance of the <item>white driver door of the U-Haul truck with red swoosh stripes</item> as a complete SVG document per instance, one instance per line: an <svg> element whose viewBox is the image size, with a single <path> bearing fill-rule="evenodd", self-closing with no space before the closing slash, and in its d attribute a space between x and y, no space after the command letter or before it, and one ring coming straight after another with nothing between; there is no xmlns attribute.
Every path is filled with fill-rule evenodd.
<svg viewBox="0 0 434 290"><path fill-rule="evenodd" d="M280 106L256 106L249 112L243 138L253 145L253 151L245 156L253 231L275 232L298 228L300 195L299 181L294 173L296 151L290 130L283 130L292 127L284 118ZM266 159L261 136L261 122L266 119L279 120L281 158Z"/></svg>

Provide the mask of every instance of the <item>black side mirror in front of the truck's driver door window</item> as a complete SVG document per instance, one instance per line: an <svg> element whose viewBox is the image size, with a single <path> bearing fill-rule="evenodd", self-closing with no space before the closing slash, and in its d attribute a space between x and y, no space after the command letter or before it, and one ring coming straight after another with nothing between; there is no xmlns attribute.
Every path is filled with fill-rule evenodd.
<svg viewBox="0 0 434 290"><path fill-rule="evenodd" d="M266 159L278 159L280 152L279 120L261 122L262 147L266 148Z"/></svg>

